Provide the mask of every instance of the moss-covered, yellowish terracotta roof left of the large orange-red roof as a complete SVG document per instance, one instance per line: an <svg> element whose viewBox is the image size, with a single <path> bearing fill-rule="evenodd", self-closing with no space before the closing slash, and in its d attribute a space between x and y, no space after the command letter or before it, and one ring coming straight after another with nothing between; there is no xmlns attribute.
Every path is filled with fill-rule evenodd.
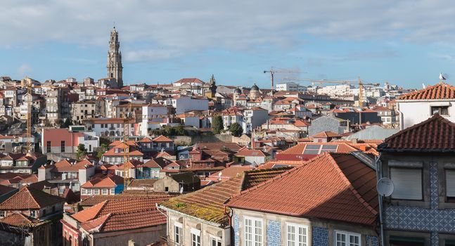
<svg viewBox="0 0 455 246"><path fill-rule="evenodd" d="M239 193L245 188L250 188L259 180L265 181L281 173L283 171L245 171L243 176L207 186L193 193L180 195L162 202L161 205L206 221L228 226L229 219L224 213L224 202L229 200L233 194Z"/></svg>

